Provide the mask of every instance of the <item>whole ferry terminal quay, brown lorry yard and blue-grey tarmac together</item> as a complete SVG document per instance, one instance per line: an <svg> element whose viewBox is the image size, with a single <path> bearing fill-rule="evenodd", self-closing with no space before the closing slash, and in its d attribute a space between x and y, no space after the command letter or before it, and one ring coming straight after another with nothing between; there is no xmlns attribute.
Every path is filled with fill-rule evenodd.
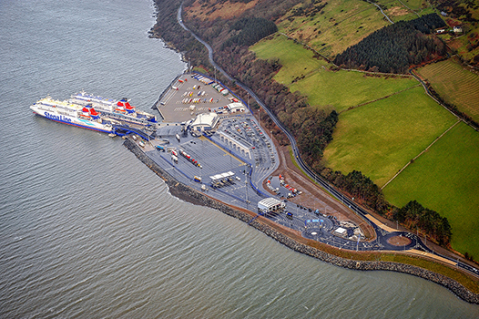
<svg viewBox="0 0 479 319"><path fill-rule="evenodd" d="M174 180L303 233L305 238L331 244L344 241L343 245L356 239L337 239L334 231L340 224L326 215L321 216L320 223L318 214L326 210L324 206L300 208L290 201L301 196L301 191L288 185L275 191L263 188L263 181L271 180L279 166L278 151L248 105L228 87L199 73L183 74L171 82L153 107L163 116L156 139L140 144L143 138L138 135L135 142ZM268 198L280 202L280 209L261 211L260 201ZM352 230L347 233L354 236Z"/></svg>

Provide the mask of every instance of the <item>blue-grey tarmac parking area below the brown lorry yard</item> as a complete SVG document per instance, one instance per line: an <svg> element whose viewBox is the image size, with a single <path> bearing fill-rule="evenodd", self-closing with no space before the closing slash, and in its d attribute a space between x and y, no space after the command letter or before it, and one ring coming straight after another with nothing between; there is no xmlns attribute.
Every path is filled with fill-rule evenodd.
<svg viewBox="0 0 479 319"><path fill-rule="evenodd" d="M194 136L185 134L182 126L168 126L158 129L158 138L149 141L145 151L175 179L220 201L256 211L259 201L272 196L261 188L262 180L277 167L278 155L270 139L250 115L223 118L209 135ZM290 201L285 206L266 217L300 232L331 232L335 224L315 208Z"/></svg>

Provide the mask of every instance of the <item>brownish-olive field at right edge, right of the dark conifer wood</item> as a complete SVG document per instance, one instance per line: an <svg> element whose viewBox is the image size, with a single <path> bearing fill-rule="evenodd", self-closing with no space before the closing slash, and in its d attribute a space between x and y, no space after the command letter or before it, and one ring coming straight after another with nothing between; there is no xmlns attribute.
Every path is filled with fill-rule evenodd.
<svg viewBox="0 0 479 319"><path fill-rule="evenodd" d="M448 103L479 122L479 76L464 69L454 59L418 70Z"/></svg>

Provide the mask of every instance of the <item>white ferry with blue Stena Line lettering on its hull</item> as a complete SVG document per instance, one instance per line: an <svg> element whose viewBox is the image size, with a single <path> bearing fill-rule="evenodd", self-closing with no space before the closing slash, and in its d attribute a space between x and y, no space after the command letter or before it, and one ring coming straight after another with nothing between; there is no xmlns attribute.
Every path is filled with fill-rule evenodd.
<svg viewBox="0 0 479 319"><path fill-rule="evenodd" d="M84 129L114 133L111 121L101 117L95 108L81 107L50 97L42 98L30 107L36 115Z"/></svg>

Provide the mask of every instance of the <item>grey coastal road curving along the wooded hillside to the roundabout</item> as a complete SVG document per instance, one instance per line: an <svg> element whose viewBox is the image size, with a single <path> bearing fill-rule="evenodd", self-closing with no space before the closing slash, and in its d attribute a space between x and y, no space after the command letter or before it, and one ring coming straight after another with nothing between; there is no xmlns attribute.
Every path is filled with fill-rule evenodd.
<svg viewBox="0 0 479 319"><path fill-rule="evenodd" d="M311 168L301 159L301 154L300 154L300 151L299 149L297 148L297 144L296 144L296 140L293 138L292 134L290 133L289 129L286 129L282 123L278 120L278 118L276 118L276 116L270 111L270 108L268 108L264 103L263 101L250 89L250 87L247 87L246 85L244 85L243 83L241 83L240 81L238 81L237 79L233 78L233 77L230 77L229 74L224 71L221 67L219 67L219 65L216 64L216 62L214 61L214 58L213 58L213 49L211 48L211 46L209 46L209 44L205 41L203 41L203 39L201 39L199 36L197 36L194 32L192 32L191 30L189 30L189 28L187 26L184 25L183 23L183 19L182 19L182 7L183 7L183 3L181 3L181 5L179 5L178 7L178 13L177 13L177 20L178 20L178 24L183 27L186 31L189 31L189 33L191 33L192 36L194 36L201 44L203 44L204 46L207 47L208 49L208 56L209 56L209 62L211 63L211 65L213 67L215 67L216 69L219 70L219 72L224 76L224 77L227 77L230 81L235 81L236 84L243 88L246 92L248 92L248 94L250 94L251 98L254 98L256 100L256 102L260 105L261 108L263 108L267 113L268 115L270 116L270 118L273 120L273 122L286 134L286 136L288 137L288 139L290 140L290 147L293 151L293 156L294 156L294 159L296 160L297 164L301 167L301 170L304 170L305 173L310 176L310 178L312 180L315 180L315 182L317 182L318 184L321 185L321 187L324 189L324 190L327 190L328 192L330 192L331 196L336 198L338 201L341 201L344 205L346 205L349 209L351 209L352 211L354 211L356 214L362 216L362 218L367 221L368 223L370 223L372 225L372 227L374 228L374 231L376 232L377 234L377 245L376 246L372 246L372 247L368 247L369 249L364 249L364 250L393 250L393 251L402 251L402 250L405 250L406 248L407 249L412 249L412 248L415 248L415 249L419 249L419 250L422 250L423 252L429 252L429 253L433 253L435 255L438 255L440 256L441 258L443 259L446 259L446 260L449 260L451 262L454 262L456 263L457 267L463 269L464 271L467 271L468 273L472 273L474 274L475 276L478 276L479 277L479 273L478 271L468 265L468 264L465 264L464 262L459 262L457 259L454 259L454 258L451 258L451 257L448 257L448 256L444 256L444 255L441 255L437 252L433 252L433 250L431 250L429 247L427 247L427 245L425 245L423 243L423 241L421 240L421 238L419 236L417 236L416 234L413 234L411 232L390 232L390 233L387 233L387 232L384 232L375 222L371 221L368 216L369 216L369 212L368 211L365 211L361 206L357 205L356 202L352 201L352 199L348 198L347 196L345 196L344 194L341 193L341 191L339 190L336 190L334 187L332 187L326 180L323 180L321 178L321 176L319 176L318 174L316 174L315 171L311 170ZM389 19L389 18L388 18ZM391 23L393 23L391 20L390 20ZM408 237L412 242L409 244L409 245L406 245L405 247L403 246L394 246L392 244L389 244L387 239L390 237L390 236L405 236L405 237ZM331 238L330 239L325 239L324 242L326 243L332 243L332 245L336 246L336 247L341 247L341 245L345 245L346 243L341 241L341 238L339 237L336 237L336 236L333 236L335 238L332 238L332 242L331 242ZM321 241L322 242L322 241ZM349 241L351 242L351 241ZM365 246L364 246L365 247Z"/></svg>

